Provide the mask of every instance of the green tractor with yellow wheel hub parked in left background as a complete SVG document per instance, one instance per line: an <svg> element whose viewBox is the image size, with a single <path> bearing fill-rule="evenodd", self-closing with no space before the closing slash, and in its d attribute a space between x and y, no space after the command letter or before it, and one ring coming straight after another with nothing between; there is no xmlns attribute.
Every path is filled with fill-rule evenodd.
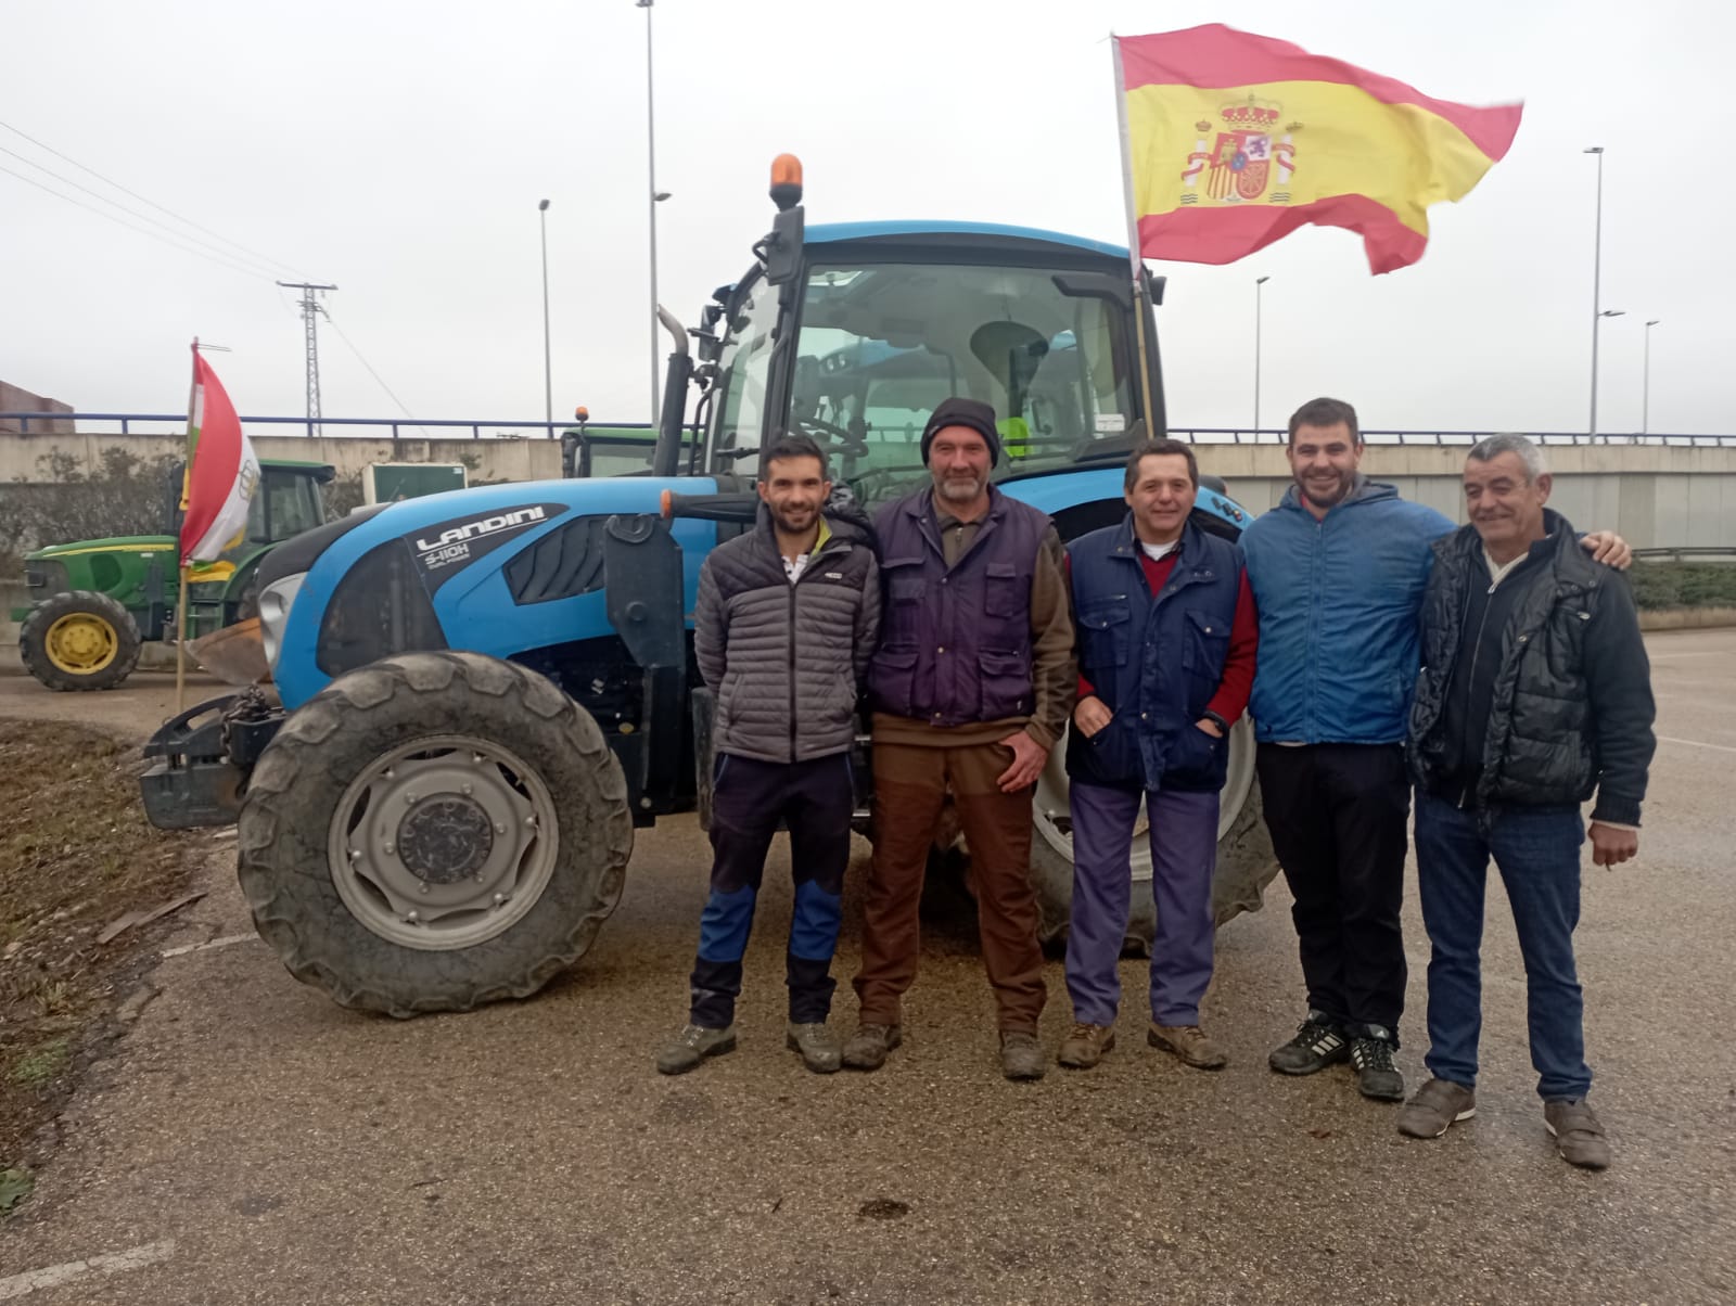
<svg viewBox="0 0 1736 1306"><path fill-rule="evenodd" d="M323 462L266 460L241 538L187 575L187 639L257 617L253 573L274 544L326 519ZM54 544L24 557L30 606L14 608L24 669L50 689L113 689L146 643L175 636L177 464L165 483L163 535Z"/></svg>

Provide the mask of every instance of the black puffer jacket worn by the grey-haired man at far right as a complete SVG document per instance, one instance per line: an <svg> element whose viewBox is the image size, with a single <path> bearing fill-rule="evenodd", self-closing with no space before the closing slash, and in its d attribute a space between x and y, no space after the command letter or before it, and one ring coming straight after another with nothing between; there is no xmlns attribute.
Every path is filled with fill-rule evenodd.
<svg viewBox="0 0 1736 1306"><path fill-rule="evenodd" d="M1618 571L1590 559L1559 514L1545 521L1549 542L1500 585L1505 620L1477 629L1467 625L1467 610L1470 589L1489 584L1481 537L1460 526L1434 544L1411 775L1474 808L1571 804L1595 792L1594 818L1637 825L1656 740L1634 596ZM1462 676L1462 691L1451 693L1462 656L1476 656L1476 683L1467 688ZM1479 726L1467 714L1479 705L1488 726L1481 755L1467 757L1465 736ZM1469 792L1453 792L1460 780Z"/></svg>

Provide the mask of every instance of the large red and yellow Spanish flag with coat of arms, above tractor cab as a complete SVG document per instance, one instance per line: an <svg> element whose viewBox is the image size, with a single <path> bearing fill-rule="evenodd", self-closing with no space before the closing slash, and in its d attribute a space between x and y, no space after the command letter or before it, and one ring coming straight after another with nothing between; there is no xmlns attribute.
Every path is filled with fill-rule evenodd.
<svg viewBox="0 0 1736 1306"><path fill-rule="evenodd" d="M1519 104L1430 99L1217 23L1113 43L1147 259L1234 262L1314 222L1361 233L1391 273L1429 245L1429 205L1469 195L1519 130Z"/></svg>

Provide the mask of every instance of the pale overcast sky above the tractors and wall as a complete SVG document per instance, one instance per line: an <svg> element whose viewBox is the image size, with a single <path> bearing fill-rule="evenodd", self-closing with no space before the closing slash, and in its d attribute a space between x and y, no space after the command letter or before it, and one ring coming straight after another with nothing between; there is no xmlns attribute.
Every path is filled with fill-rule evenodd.
<svg viewBox="0 0 1736 1306"><path fill-rule="evenodd" d="M1229 267L1168 264L1174 425L1246 425L1314 394L1368 427L1583 431L1602 144L1599 429L1736 432L1736 158L1720 0L658 0L661 299L693 323L767 229L790 149L809 222L941 217L1125 241L1104 36L1222 21L1472 104L1517 141L1424 261L1373 278L1305 228ZM634 0L0 0L0 123L253 255L236 271L104 221L139 200L0 129L0 379L82 412L186 406L187 340L243 413L304 406L281 280L332 281L330 417L543 412L536 201L549 208L554 408L649 410L646 10ZM1726 90L1719 90L1726 87ZM113 212L113 210L108 210ZM123 215L125 217L125 215ZM135 226L141 219L125 217ZM155 228L153 228L155 229ZM181 228L184 231L184 228ZM191 233L231 250L222 241ZM660 344L660 353L663 346ZM358 353L359 351L359 358Z"/></svg>

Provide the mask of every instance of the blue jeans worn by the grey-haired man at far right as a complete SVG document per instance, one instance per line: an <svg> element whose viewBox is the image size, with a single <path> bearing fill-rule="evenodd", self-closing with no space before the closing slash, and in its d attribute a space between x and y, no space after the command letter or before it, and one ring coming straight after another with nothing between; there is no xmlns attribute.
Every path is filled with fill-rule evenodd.
<svg viewBox="0 0 1736 1306"><path fill-rule="evenodd" d="M1573 967L1580 924L1580 848L1575 808L1505 808L1488 828L1477 815L1417 792L1417 887L1434 952L1429 959L1429 1073L1477 1084L1483 1030L1483 889L1489 858L1502 872L1524 957L1531 1065L1545 1101L1583 1098L1585 1002Z"/></svg>

